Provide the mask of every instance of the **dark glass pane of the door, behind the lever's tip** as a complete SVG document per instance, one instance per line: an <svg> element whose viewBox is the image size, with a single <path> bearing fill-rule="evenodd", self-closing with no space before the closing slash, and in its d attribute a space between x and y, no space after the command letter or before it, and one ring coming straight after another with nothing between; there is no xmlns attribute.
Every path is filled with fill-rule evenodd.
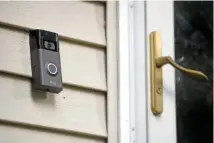
<svg viewBox="0 0 214 143"><path fill-rule="evenodd" d="M208 75L176 71L177 143L213 143L213 2L174 2L175 60Z"/></svg>

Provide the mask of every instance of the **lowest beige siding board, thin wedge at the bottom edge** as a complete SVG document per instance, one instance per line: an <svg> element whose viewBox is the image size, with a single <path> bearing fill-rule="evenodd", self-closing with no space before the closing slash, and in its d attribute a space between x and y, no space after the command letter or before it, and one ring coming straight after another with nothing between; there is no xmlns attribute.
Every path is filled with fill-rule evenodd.
<svg viewBox="0 0 214 143"><path fill-rule="evenodd" d="M49 133L0 124L1 143L105 143L104 140Z"/></svg>

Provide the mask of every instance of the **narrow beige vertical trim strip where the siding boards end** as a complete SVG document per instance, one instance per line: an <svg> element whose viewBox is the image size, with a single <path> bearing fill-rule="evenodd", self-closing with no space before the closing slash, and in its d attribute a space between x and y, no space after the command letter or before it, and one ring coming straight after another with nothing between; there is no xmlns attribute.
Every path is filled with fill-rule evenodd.
<svg viewBox="0 0 214 143"><path fill-rule="evenodd" d="M107 143L118 143L117 2L106 2Z"/></svg>

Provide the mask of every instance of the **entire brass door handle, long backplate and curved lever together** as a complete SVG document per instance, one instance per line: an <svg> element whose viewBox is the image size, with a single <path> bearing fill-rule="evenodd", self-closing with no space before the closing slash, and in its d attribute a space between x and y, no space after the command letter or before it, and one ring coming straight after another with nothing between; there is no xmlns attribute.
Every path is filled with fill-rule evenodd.
<svg viewBox="0 0 214 143"><path fill-rule="evenodd" d="M150 83L151 83L151 111L154 115L163 112L163 75L162 66L170 64L189 77L206 81L208 77L197 70L187 69L176 62L170 56L162 56L162 45L160 33L157 31L150 33Z"/></svg>

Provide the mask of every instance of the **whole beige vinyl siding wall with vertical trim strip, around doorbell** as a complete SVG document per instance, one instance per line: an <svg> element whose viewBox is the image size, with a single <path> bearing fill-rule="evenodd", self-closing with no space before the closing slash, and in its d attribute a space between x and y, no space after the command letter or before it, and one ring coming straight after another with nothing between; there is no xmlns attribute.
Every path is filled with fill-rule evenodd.
<svg viewBox="0 0 214 143"><path fill-rule="evenodd" d="M0 142L117 142L116 10L110 2L107 30L106 3L0 2ZM31 87L36 28L60 35L60 94Z"/></svg>

